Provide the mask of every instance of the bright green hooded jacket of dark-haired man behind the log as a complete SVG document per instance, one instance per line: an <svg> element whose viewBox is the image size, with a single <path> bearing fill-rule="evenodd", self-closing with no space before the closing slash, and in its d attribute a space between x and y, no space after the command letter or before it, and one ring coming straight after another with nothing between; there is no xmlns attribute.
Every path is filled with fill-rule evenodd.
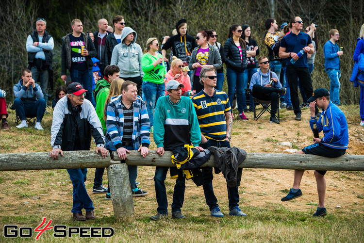
<svg viewBox="0 0 364 243"><path fill-rule="evenodd" d="M95 86L96 92L96 113L102 125L102 131L106 134L106 121L104 120L105 101L110 91L110 83L105 79L99 80Z"/></svg>

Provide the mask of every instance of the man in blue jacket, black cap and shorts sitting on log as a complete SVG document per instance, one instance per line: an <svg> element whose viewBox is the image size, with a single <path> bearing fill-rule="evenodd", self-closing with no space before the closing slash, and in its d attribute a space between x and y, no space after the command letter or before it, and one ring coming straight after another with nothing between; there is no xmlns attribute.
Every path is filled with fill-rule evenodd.
<svg viewBox="0 0 364 243"><path fill-rule="evenodd" d="M314 154L329 158L339 157L344 155L349 142L347 131L347 120L344 113L335 104L330 101L330 93L327 89L316 89L308 99L310 102L311 120L310 126L314 132L314 144L304 147L297 151L298 154ZM321 116L316 119L315 105L322 109ZM318 133L324 132L324 137L319 138ZM295 179L293 187L288 195L281 200L290 201L302 195L299 189L304 170L295 170ZM314 216L325 216L327 214L325 208L325 192L326 192L326 170L314 171L314 176L317 183L318 207Z"/></svg>

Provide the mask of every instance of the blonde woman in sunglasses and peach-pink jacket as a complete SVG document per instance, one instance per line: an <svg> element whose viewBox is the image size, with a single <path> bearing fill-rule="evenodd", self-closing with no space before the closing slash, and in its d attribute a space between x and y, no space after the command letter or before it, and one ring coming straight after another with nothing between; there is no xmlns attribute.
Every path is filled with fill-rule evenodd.
<svg viewBox="0 0 364 243"><path fill-rule="evenodd" d="M165 85L170 80L176 80L179 83L183 84L183 87L181 89L182 96L191 96L193 95L191 91L191 80L190 76L187 75L186 71L182 71L183 68L183 62L181 59L177 58L176 56L172 57L171 62L171 69L167 72L165 79ZM165 95L167 95L167 91L165 91Z"/></svg>

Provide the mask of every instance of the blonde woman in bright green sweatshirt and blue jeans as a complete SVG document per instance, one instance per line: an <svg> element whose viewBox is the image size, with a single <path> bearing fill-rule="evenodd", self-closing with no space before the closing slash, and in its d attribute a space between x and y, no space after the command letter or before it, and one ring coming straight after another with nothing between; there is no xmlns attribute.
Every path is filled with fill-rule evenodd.
<svg viewBox="0 0 364 243"><path fill-rule="evenodd" d="M164 79L167 79L165 78L167 72L162 55L157 52L159 49L158 39L149 38L146 46L142 57L142 70L144 72L143 95L147 103L150 132L153 132L154 108L158 98L164 96Z"/></svg>

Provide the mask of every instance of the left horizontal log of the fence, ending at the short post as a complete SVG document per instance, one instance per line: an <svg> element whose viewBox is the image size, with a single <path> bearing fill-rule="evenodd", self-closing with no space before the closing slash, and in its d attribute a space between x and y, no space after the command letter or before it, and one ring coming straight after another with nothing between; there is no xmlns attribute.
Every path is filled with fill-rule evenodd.
<svg viewBox="0 0 364 243"><path fill-rule="evenodd" d="M50 152L0 154L0 171L103 168L114 163L120 161L110 160L110 155L102 159L95 150L65 151L58 160L50 158Z"/></svg>

